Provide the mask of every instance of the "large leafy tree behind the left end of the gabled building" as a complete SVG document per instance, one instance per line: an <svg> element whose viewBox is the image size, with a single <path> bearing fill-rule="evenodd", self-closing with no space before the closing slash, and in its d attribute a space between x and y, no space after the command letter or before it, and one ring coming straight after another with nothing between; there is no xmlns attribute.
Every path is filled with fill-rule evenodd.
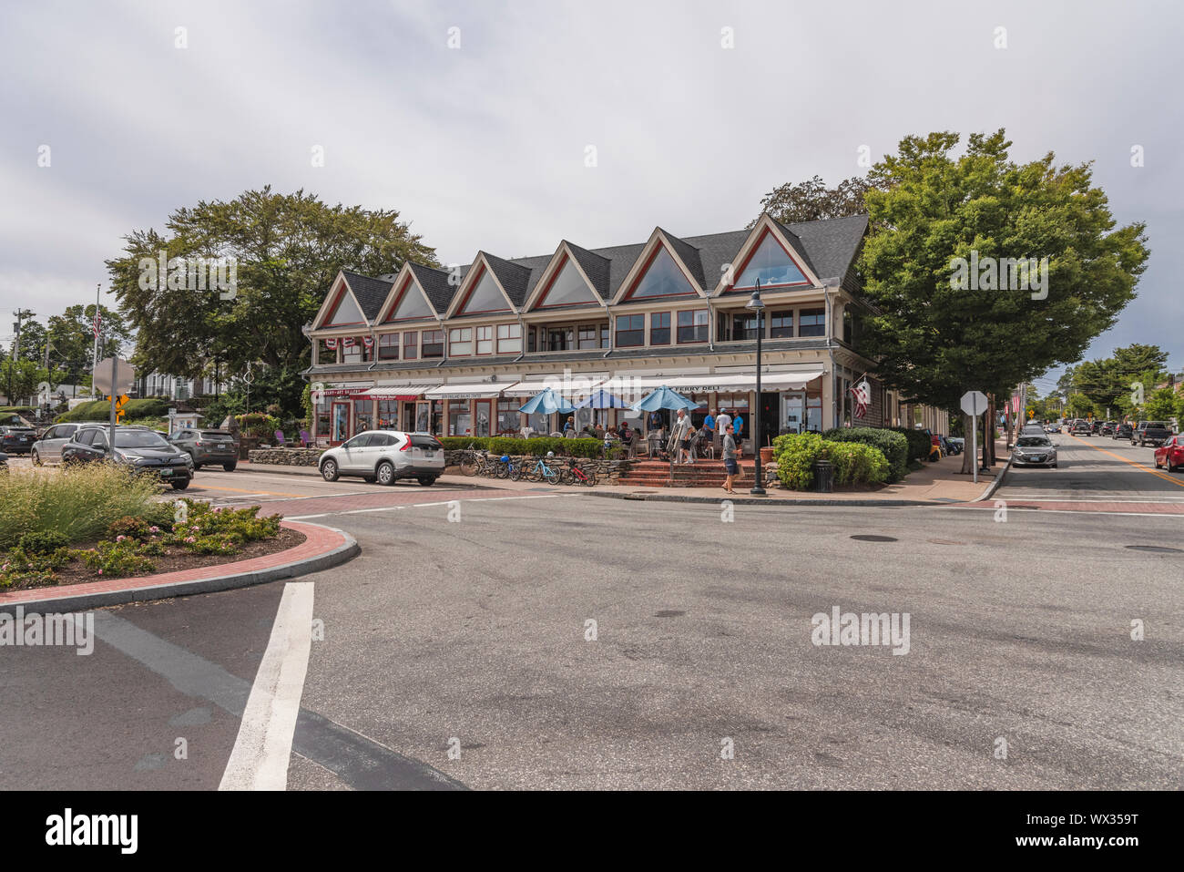
<svg viewBox="0 0 1184 872"><path fill-rule="evenodd" d="M173 212L167 235L136 230L107 262L121 310L136 328L135 360L146 370L194 378L249 363L285 371L308 359L301 332L341 268L368 275L405 261L435 263L433 249L394 210L330 206L313 194L246 191L230 201L201 201ZM219 290L141 287L141 258L232 257L233 299Z"/></svg>

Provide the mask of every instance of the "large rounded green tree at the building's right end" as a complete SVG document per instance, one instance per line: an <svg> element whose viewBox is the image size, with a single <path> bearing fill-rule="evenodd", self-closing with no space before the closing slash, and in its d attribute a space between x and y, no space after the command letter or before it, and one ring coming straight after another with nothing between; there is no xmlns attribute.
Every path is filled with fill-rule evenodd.
<svg viewBox="0 0 1184 872"><path fill-rule="evenodd" d="M907 136L873 167L860 259L877 308L864 335L880 376L952 412L967 389L1005 395L1080 360L1133 299L1148 254L1143 224L1115 229L1088 164L1058 167L1051 153L1016 164L1003 130L971 134L955 155L959 140ZM1047 297L953 287L952 258L972 252L1048 257Z"/></svg>

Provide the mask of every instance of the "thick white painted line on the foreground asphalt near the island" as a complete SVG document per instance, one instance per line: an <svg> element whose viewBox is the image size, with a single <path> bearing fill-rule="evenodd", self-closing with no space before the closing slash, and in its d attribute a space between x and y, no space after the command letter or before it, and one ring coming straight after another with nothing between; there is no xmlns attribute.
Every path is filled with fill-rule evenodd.
<svg viewBox="0 0 1184 872"><path fill-rule="evenodd" d="M311 647L313 582L289 582L219 790L288 789L288 763Z"/></svg>

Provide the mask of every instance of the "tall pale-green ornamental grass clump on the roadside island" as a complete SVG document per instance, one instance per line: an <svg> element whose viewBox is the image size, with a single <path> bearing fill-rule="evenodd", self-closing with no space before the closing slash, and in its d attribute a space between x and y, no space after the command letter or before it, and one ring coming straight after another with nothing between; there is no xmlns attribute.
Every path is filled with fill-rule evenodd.
<svg viewBox="0 0 1184 872"><path fill-rule="evenodd" d="M0 476L0 550L13 547L25 533L57 531L71 543L98 539L118 518L160 522L172 518L159 501L160 483L134 477L111 463L46 473L13 469Z"/></svg>

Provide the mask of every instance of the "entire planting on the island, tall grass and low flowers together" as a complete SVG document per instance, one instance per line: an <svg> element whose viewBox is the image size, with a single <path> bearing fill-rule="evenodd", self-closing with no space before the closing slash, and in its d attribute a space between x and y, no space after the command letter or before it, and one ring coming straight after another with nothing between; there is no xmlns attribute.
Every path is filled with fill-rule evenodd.
<svg viewBox="0 0 1184 872"><path fill-rule="evenodd" d="M283 551L304 534L258 506L165 500L111 464L0 479L0 591L187 570Z"/></svg>

